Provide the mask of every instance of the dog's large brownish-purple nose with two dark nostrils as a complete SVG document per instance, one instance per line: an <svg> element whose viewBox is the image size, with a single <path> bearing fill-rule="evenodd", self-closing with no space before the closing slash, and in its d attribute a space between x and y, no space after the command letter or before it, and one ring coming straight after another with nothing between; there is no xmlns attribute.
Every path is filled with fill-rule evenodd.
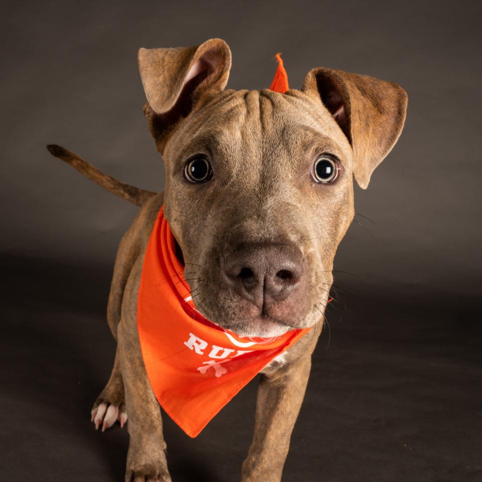
<svg viewBox="0 0 482 482"><path fill-rule="evenodd" d="M291 244L246 243L224 256L222 270L236 292L261 309L296 288L302 259L301 250Z"/></svg>

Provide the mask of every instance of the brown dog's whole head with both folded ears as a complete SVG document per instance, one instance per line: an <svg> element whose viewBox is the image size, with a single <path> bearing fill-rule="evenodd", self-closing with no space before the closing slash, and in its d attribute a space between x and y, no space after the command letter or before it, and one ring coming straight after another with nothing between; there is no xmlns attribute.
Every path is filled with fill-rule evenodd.
<svg viewBox="0 0 482 482"><path fill-rule="evenodd" d="M140 49L165 216L199 310L239 335L323 318L333 257L405 120L397 84L314 68L302 90L224 90L221 39Z"/></svg>

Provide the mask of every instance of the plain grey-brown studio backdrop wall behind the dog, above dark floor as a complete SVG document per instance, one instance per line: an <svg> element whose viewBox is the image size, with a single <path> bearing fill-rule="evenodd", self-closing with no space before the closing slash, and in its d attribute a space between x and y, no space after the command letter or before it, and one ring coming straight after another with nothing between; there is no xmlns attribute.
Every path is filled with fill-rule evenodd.
<svg viewBox="0 0 482 482"><path fill-rule="evenodd" d="M228 87L268 87L281 51L290 84L316 66L400 83L404 132L356 193L337 265L447 295L480 293L481 29L477 2L10 2L2 34L4 252L111 262L135 209L44 149L58 143L160 190L136 55L222 37Z"/></svg>

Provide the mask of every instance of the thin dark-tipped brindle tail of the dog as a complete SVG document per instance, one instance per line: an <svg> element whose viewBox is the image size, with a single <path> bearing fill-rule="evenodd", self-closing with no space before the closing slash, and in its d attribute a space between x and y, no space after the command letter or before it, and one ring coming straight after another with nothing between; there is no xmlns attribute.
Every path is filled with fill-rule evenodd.
<svg viewBox="0 0 482 482"><path fill-rule="evenodd" d="M94 181L95 184L98 184L102 188L107 189L107 191L119 196L119 198L125 199L136 206L142 206L149 198L156 194L152 191L145 191L144 189L139 189L117 181L113 177L99 171L73 152L67 151L67 149L57 146L56 144L49 144L47 149L52 156L58 157L67 164L70 164L80 174L83 174L86 178Z"/></svg>

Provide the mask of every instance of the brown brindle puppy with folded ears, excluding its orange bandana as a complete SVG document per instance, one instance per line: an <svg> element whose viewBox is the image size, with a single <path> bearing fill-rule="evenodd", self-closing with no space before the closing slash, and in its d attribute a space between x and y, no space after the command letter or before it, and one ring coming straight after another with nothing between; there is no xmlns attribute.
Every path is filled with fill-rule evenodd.
<svg viewBox="0 0 482 482"><path fill-rule="evenodd" d="M239 336L310 329L261 370L241 480L279 481L323 327L333 258L354 216L353 177L367 188L400 136L407 94L395 83L321 67L307 73L301 90L226 90L231 51L219 38L141 48L138 63L144 113L165 163L163 193L120 183L48 146L141 207L117 252L107 308L117 350L92 421L102 430L129 421L126 481L171 480L136 321L144 253L164 206L200 313Z"/></svg>

